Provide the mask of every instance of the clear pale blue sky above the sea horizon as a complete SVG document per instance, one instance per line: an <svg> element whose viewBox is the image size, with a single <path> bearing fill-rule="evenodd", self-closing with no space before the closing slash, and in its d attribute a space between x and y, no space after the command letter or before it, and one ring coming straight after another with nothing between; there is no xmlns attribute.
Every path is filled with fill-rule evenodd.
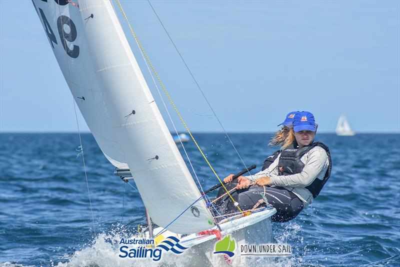
<svg viewBox="0 0 400 267"><path fill-rule="evenodd" d="M342 113L356 132L400 131L399 1L151 3L227 131L275 131L292 110L314 113L321 132ZM148 3L121 4L189 128L220 132ZM32 3L1 0L0 20L0 131L76 131Z"/></svg>

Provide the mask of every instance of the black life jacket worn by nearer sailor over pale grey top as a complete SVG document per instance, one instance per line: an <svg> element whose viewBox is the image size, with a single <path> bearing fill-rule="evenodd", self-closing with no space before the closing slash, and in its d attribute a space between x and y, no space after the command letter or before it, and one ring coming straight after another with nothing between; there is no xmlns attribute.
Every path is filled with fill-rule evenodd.
<svg viewBox="0 0 400 267"><path fill-rule="evenodd" d="M280 152L278 162L279 175L291 175L300 173L304 168L304 163L302 163L300 160L301 157L316 146L319 146L325 150L328 156L329 165L322 180L315 178L310 185L305 186L305 188L311 192L314 198L319 194L323 185L329 179L330 172L332 170L332 160L330 158L329 148L321 142L314 142L308 146L303 146L300 148L286 148Z"/></svg>

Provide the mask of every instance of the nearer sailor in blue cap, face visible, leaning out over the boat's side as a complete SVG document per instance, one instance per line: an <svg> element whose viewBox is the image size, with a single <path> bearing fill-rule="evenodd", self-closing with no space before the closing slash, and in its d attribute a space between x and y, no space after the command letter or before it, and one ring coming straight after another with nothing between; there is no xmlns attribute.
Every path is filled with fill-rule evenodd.
<svg viewBox="0 0 400 267"><path fill-rule="evenodd" d="M269 204L276 209L271 217L275 222L291 220L311 204L331 172L328 147L314 142L317 125L312 113L296 112L292 126L286 140L291 140L290 146L282 149L268 168L251 176L240 176L237 191L232 194L244 209L252 208L265 194ZM225 206L223 212L234 210L230 207L233 205Z"/></svg>

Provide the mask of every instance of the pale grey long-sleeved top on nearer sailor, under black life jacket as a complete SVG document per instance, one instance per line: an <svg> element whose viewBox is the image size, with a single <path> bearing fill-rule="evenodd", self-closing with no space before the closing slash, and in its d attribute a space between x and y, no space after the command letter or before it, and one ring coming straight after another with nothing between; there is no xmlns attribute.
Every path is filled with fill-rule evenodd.
<svg viewBox="0 0 400 267"><path fill-rule="evenodd" d="M305 186L310 185L315 179L323 179L329 165L325 150L316 146L305 153L300 158L301 162L304 163L304 168L300 173L291 175L278 175L279 157L280 154L265 170L245 177L250 181L255 181L259 177L269 176L271 177L271 186L281 186L292 191L304 202L304 207L308 206L314 198Z"/></svg>

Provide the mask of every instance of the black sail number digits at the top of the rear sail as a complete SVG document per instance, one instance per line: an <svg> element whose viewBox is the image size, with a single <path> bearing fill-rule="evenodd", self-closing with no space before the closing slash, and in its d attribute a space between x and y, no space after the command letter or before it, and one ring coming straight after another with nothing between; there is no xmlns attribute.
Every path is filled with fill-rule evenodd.
<svg viewBox="0 0 400 267"><path fill-rule="evenodd" d="M41 0L43 2L47 2L47 0ZM33 2L33 1L32 1ZM55 3L57 3L60 6L64 6L68 4L66 0L54 0ZM33 3L33 6L36 8L36 6ZM50 42L51 47L54 49L54 44L58 45L57 39L54 35L53 30L50 27L50 24L48 23L46 16L44 15L44 12L42 9L38 9L41 19L43 21L44 25L44 30L47 34L48 40ZM68 30L69 28L69 30ZM57 30L58 30L58 35L59 39L61 40L62 47L64 48L66 54L71 57L76 59L79 56L79 47L76 45L72 46L72 49L67 45L69 43L72 43L73 41L76 40L76 27L73 21L64 15L61 15L57 18Z"/></svg>

